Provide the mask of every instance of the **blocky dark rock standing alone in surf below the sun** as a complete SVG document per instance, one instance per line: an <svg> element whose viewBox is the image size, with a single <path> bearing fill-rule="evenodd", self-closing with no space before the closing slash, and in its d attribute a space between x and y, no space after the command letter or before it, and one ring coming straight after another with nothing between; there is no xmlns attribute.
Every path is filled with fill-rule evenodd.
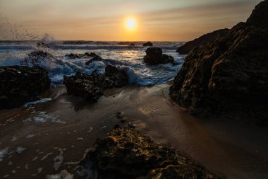
<svg viewBox="0 0 268 179"><path fill-rule="evenodd" d="M146 56L143 58L145 64L176 64L173 57L163 54L163 51L159 47L149 47L146 50Z"/></svg>

